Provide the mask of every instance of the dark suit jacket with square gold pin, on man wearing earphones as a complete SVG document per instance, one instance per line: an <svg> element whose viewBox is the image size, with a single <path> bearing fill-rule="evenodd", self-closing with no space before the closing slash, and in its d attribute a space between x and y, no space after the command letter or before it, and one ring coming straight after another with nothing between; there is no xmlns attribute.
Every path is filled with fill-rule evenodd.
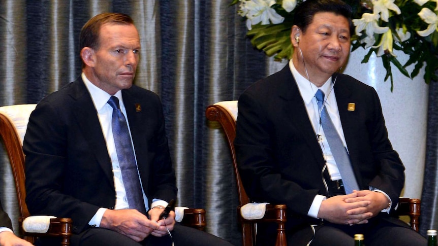
<svg viewBox="0 0 438 246"><path fill-rule="evenodd" d="M360 189L376 187L396 204L404 166L388 140L376 91L342 74L334 91ZM347 110L350 102L355 111ZM307 213L315 195L327 195L321 178L325 162L289 65L250 86L238 108L234 145L249 197L286 204L293 224L315 223Z"/></svg>

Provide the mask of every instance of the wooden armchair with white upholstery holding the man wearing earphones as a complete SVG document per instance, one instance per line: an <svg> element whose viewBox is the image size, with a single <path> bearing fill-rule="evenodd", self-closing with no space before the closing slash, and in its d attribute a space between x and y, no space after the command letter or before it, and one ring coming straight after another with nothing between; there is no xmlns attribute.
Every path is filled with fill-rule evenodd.
<svg viewBox="0 0 438 246"><path fill-rule="evenodd" d="M234 150L234 138L236 137L236 119L237 119L237 100L234 101L221 101L214 105L208 106L205 115L210 121L217 121L224 129L225 136L227 138L228 147L230 148L231 158L234 166L234 173L236 176L239 207L238 207L238 221L242 227L242 240L243 246L255 245L256 238L256 223L276 222L277 227L277 240L275 245L286 245L285 234L285 222L286 222L286 205L266 205L266 213L262 219L259 220L246 220L240 213L240 208L250 203L251 201L246 194L242 182L240 180L239 170L237 169L236 153ZM420 199L400 198L397 215L409 216L412 229L418 231L420 216Z"/></svg>

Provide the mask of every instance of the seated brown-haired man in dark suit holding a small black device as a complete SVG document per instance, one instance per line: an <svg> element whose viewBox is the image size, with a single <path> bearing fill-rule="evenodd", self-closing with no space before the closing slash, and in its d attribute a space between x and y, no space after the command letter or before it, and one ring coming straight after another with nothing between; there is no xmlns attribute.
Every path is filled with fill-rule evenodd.
<svg viewBox="0 0 438 246"><path fill-rule="evenodd" d="M80 49L82 75L42 99L29 119L30 213L72 218L72 245L230 245L175 224L174 212L160 218L177 188L160 99L132 84L140 52L133 20L91 18Z"/></svg>

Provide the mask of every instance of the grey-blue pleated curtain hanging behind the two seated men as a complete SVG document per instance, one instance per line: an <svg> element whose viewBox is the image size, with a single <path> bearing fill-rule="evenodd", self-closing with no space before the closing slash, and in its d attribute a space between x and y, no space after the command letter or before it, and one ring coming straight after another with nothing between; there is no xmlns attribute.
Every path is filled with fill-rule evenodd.
<svg viewBox="0 0 438 246"><path fill-rule="evenodd" d="M142 46L135 84L159 94L163 102L179 190L177 205L205 208L206 231L239 245L231 157L222 129L206 120L205 109L217 101L238 99L247 86L273 71L269 70L271 59L246 39L245 23L236 14L237 6L230 7L230 3L1 0L0 106L37 103L74 81L81 72L78 41L82 25L102 12L129 14ZM430 91L430 101L435 103L429 106L426 170L434 175L433 180L438 90ZM0 199L10 216L17 217L15 188L4 152L0 161ZM426 187L422 210L429 217L423 219L429 228L438 221L434 210L438 192L436 182L429 179Z"/></svg>

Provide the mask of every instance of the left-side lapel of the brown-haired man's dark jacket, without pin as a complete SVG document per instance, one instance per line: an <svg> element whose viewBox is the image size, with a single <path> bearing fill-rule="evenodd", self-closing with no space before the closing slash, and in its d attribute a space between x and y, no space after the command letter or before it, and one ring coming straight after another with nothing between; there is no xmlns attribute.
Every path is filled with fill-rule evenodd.
<svg viewBox="0 0 438 246"><path fill-rule="evenodd" d="M76 101L72 107L79 129L86 137L88 145L92 146L96 161L103 169L108 181L114 185L111 159L94 103L82 79L73 83L75 83L72 85L74 90L70 95Z"/></svg>

